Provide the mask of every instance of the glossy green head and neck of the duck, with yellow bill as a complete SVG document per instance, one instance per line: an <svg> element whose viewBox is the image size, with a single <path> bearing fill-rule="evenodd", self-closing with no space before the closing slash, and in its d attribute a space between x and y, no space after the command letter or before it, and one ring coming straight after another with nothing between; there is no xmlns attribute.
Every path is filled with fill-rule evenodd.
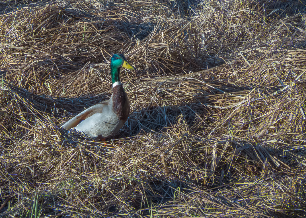
<svg viewBox="0 0 306 218"><path fill-rule="evenodd" d="M130 70L136 70L135 67L130 65L125 56L123 54L114 54L112 58L110 59L110 71L112 74L112 82L120 81L119 78L119 73L120 73L120 68L125 67Z"/></svg>

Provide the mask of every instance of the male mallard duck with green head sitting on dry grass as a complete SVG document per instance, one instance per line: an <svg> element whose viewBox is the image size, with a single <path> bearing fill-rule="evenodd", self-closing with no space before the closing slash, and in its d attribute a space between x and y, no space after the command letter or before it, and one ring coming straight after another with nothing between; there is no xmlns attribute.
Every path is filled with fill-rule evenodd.
<svg viewBox="0 0 306 218"><path fill-rule="evenodd" d="M98 140L104 140L121 129L130 113L129 99L119 77L121 67L136 69L127 62L125 56L114 54L110 60L113 83L110 99L89 107L62 124L62 128L75 129Z"/></svg>

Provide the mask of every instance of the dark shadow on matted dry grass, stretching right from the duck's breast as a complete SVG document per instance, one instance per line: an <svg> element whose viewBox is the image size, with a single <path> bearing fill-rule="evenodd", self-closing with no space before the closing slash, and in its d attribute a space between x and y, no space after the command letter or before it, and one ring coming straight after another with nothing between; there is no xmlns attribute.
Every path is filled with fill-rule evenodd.
<svg viewBox="0 0 306 218"><path fill-rule="evenodd" d="M162 133L168 127L176 128L177 126L186 131L196 129L198 131L209 123L207 115L207 108L199 101L163 107L150 106L131 112L129 119L117 136L125 138L142 133ZM203 122L204 120L207 123Z"/></svg>

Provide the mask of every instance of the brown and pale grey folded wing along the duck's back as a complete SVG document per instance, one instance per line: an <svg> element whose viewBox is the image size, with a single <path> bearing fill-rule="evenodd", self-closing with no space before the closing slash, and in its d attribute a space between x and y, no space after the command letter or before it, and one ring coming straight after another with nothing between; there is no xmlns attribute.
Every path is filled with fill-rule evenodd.
<svg viewBox="0 0 306 218"><path fill-rule="evenodd" d="M82 111L81 113L76 115L74 118L62 124L61 127L65 129L71 129L73 127L76 127L81 121L87 119L88 117L91 117L93 114L101 113L103 111L103 108L108 105L108 102L109 100L103 101L99 104L95 104L87 108L85 111Z"/></svg>

